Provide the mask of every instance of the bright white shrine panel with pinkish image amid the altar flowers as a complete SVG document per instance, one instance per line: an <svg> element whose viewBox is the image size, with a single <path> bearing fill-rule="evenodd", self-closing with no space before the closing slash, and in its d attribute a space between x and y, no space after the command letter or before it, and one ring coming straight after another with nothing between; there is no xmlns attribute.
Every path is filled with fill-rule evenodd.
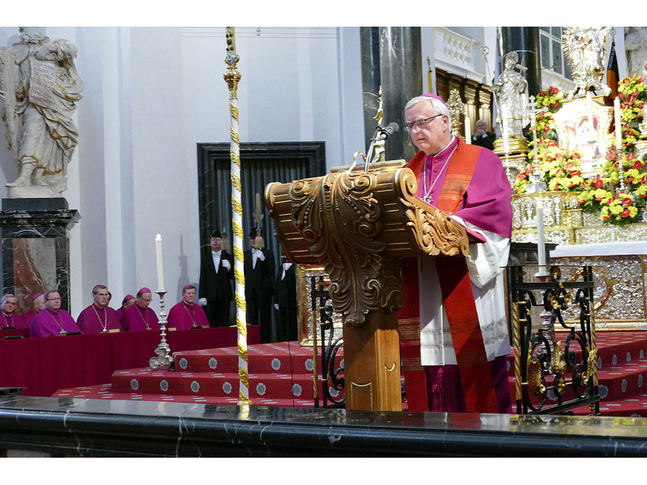
<svg viewBox="0 0 647 485"><path fill-rule="evenodd" d="M606 160L613 108L601 104L603 100L598 96L564 101L564 106L553 115L559 148L580 153L583 178L598 174Z"/></svg>

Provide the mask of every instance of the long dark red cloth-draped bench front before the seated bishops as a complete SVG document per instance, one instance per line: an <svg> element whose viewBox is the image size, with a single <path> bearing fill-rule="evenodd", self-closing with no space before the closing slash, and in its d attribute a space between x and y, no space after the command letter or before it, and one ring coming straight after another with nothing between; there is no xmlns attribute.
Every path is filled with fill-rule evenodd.
<svg viewBox="0 0 647 485"><path fill-rule="evenodd" d="M167 342L172 352L231 347L237 345L237 328L170 331ZM259 342L258 325L249 326L247 343ZM148 367L159 344L158 330L0 339L0 387L50 396L63 388L106 384L116 370Z"/></svg>

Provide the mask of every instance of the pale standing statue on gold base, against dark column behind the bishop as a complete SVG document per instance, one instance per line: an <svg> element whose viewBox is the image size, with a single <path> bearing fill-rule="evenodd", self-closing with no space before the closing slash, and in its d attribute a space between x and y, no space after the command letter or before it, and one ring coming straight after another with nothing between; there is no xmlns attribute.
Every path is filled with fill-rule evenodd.
<svg viewBox="0 0 647 485"><path fill-rule="evenodd" d="M522 138L523 129L530 122L528 109L528 82L517 71L519 55L516 50L503 57L503 72L494 85L494 97L499 111L496 122L509 138ZM503 125L507 122L507 129Z"/></svg>

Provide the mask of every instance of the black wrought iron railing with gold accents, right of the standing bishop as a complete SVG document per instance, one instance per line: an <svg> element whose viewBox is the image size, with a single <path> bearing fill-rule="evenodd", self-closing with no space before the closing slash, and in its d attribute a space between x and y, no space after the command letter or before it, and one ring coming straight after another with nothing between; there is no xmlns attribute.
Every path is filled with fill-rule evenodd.
<svg viewBox="0 0 647 485"><path fill-rule="evenodd" d="M559 266L508 267L517 414L573 414L588 405L599 414L592 271L562 281ZM564 311L578 321L566 323Z"/></svg>

